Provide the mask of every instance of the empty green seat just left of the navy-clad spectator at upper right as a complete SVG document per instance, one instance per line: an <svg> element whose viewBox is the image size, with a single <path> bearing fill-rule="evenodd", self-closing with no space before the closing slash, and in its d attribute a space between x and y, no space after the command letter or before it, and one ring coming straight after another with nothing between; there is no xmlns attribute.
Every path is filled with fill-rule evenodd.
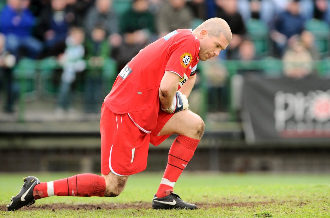
<svg viewBox="0 0 330 218"><path fill-rule="evenodd" d="M269 36L267 25L258 19L250 19L246 22L248 34L255 44L256 53L267 55L269 52Z"/></svg>

